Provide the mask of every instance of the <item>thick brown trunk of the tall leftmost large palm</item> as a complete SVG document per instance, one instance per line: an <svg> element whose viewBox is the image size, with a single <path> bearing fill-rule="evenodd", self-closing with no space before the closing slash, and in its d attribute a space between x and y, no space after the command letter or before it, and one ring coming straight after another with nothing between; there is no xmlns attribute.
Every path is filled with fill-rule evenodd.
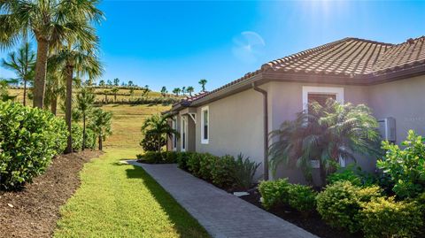
<svg viewBox="0 0 425 238"><path fill-rule="evenodd" d="M48 51L49 42L41 37L37 37L37 61L35 63L33 105L38 108L43 108L44 105Z"/></svg>

